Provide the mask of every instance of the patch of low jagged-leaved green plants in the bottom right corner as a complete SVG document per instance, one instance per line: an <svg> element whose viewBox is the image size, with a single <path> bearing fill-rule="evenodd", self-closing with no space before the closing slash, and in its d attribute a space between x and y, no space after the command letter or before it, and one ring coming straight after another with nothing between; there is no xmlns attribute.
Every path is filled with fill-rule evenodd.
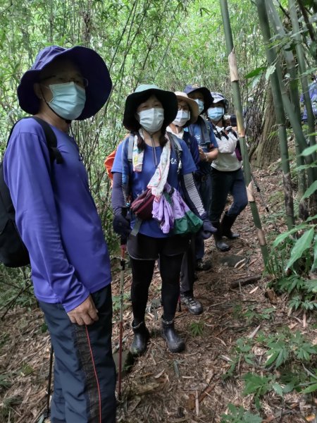
<svg viewBox="0 0 317 423"><path fill-rule="evenodd" d="M254 347L261 347L263 355L258 357ZM261 360L262 356L266 360ZM237 339L232 348L230 368L223 379L235 378L238 365L240 372L245 364L249 365L253 371L242 374L243 395L252 395L260 410L261 398L272 391L281 397L293 390L298 393L317 391L316 358L317 345L312 345L299 331L292 333L288 328L279 328L276 333L259 332L255 338ZM313 370L307 369L308 366Z"/></svg>

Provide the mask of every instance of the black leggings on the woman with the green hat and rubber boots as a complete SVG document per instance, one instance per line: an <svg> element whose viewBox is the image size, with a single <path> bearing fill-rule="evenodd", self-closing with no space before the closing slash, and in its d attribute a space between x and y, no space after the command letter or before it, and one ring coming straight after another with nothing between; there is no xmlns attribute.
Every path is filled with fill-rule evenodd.
<svg viewBox="0 0 317 423"><path fill-rule="evenodd" d="M163 319L171 321L175 317L180 295L180 266L183 254L160 255L162 278ZM132 267L131 300L134 324L144 321L149 286L153 277L155 260L136 260L130 257Z"/></svg>

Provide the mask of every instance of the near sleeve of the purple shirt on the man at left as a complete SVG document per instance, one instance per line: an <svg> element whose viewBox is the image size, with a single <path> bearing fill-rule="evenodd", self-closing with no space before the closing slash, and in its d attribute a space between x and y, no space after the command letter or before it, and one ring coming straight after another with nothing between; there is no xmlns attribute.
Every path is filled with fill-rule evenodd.
<svg viewBox="0 0 317 423"><path fill-rule="evenodd" d="M4 156L4 178L32 271L34 267L49 282L66 312L74 309L88 297L89 290L78 281L63 250L44 133L42 138L15 127Z"/></svg>

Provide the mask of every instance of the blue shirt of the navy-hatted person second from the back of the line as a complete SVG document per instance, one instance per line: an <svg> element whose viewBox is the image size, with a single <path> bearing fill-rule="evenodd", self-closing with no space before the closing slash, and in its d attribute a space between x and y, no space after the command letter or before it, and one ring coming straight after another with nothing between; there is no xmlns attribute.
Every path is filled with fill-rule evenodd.
<svg viewBox="0 0 317 423"><path fill-rule="evenodd" d="M206 127L206 125L209 126L210 143L208 145L204 144L205 140L202 135L201 125L204 125L204 128ZM185 130L186 129L187 128L185 128ZM213 126L211 125L209 121L203 121L203 118L201 118L201 116L199 116L196 123L192 123L191 125L189 125L187 130L189 133L194 135L194 137L196 138L198 142L198 145L202 148L204 152L210 152L211 149L218 148L216 137L215 137L215 134L213 133ZM211 164L207 161L199 161L199 163L197 164L197 172L195 173L196 175L200 175L200 176L208 175L209 173L211 173Z"/></svg>

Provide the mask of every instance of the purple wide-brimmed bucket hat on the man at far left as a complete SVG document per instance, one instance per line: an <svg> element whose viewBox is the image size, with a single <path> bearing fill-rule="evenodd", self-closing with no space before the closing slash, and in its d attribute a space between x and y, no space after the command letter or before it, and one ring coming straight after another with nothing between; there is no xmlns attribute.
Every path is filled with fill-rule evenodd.
<svg viewBox="0 0 317 423"><path fill-rule="evenodd" d="M34 92L33 85L39 81L39 73L49 63L60 57L73 61L80 69L82 76L88 80L85 107L76 120L82 121L94 116L106 103L111 93L112 82L104 59L96 51L82 46L75 46L70 49L50 46L39 51L35 63L29 71L25 72L18 86L18 99L21 109L28 114L37 114L39 99Z"/></svg>

